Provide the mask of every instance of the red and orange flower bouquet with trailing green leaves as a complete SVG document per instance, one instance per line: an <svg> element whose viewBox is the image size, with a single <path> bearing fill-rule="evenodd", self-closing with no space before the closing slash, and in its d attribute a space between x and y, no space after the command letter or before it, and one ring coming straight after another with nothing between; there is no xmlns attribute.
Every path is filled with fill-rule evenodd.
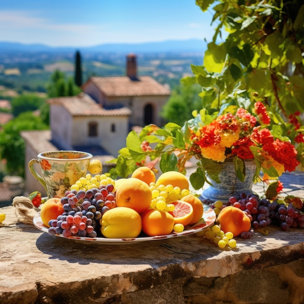
<svg viewBox="0 0 304 304"><path fill-rule="evenodd" d="M126 177L138 166L155 169L157 163L162 172L186 174L187 161L195 159L197 169L189 180L198 190L204 183L210 184L207 177L220 183L219 174L227 160L233 161L237 178L244 181L245 161L252 160L256 165L253 181L276 180L272 188L280 191L277 180L282 173L304 165L304 126L299 115L285 121L257 101L252 113L236 106L212 114L202 109L183 126L170 122L163 128L147 125L139 134L129 133L111 175Z"/></svg>

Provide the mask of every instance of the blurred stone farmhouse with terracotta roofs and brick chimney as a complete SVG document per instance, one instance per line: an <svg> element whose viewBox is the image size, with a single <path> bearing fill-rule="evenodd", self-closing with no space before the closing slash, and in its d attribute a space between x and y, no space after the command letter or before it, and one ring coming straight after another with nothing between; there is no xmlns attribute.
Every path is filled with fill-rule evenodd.
<svg viewBox="0 0 304 304"><path fill-rule="evenodd" d="M128 55L126 76L91 77L79 95L47 100L50 130L21 132L26 142L26 193L46 194L27 168L40 152L90 152L93 158L101 160L103 171L107 172L111 165L106 161L118 156L132 129L150 123L163 124L160 111L170 91L149 76L137 76L136 70L136 56Z"/></svg>

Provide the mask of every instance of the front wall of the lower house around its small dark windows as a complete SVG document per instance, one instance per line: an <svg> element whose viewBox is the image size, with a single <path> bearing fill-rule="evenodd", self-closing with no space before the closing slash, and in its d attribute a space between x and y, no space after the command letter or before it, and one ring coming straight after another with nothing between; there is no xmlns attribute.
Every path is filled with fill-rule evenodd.
<svg viewBox="0 0 304 304"><path fill-rule="evenodd" d="M97 136L88 136L88 125L90 122L98 123ZM112 131L113 124L115 131ZM72 130L72 146L101 146L107 152L117 157L118 151L126 145L128 117L74 117Z"/></svg>

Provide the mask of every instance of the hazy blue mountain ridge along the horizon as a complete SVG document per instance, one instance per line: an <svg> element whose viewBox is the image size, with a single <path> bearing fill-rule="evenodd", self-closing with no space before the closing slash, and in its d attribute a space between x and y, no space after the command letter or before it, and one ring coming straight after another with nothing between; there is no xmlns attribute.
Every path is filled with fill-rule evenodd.
<svg viewBox="0 0 304 304"><path fill-rule="evenodd" d="M17 42L0 42L1 52L204 52L206 44L203 40L166 40L145 43L105 43L92 47L50 47L44 44L23 44Z"/></svg>

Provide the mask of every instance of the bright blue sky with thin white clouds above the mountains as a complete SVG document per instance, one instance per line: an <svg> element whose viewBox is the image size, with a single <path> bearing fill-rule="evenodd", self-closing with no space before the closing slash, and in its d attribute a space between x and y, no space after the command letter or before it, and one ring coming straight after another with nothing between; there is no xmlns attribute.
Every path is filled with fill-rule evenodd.
<svg viewBox="0 0 304 304"><path fill-rule="evenodd" d="M216 24L195 0L2 0L0 41L94 46L211 39Z"/></svg>

